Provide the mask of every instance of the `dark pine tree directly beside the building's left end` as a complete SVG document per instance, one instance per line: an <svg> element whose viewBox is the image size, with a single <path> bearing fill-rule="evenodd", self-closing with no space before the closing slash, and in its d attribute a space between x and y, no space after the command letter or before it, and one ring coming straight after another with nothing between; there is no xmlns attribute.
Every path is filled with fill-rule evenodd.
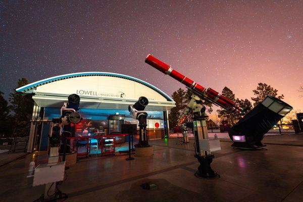
<svg viewBox="0 0 303 202"><path fill-rule="evenodd" d="M28 84L26 78L18 80L17 88ZM31 94L22 95L20 92L10 93L9 101L11 103L10 109L14 112L13 115L13 127L20 136L28 135L30 128L30 118L33 110L33 99Z"/></svg>

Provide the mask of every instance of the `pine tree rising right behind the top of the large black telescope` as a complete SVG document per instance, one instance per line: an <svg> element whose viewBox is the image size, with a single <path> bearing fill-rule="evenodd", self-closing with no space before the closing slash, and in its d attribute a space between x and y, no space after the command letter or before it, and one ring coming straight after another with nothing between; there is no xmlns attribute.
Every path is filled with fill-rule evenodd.
<svg viewBox="0 0 303 202"><path fill-rule="evenodd" d="M278 90L274 89L270 85L267 85L266 83L258 83L257 89L252 90L252 92L254 92L254 94L256 95L256 97L251 97L251 100L255 101L254 107L256 107L259 103L261 103L262 100L267 95L272 95L274 97L277 97L278 99L283 99L284 98L283 94L277 96L278 95L278 93L277 93Z"/></svg>

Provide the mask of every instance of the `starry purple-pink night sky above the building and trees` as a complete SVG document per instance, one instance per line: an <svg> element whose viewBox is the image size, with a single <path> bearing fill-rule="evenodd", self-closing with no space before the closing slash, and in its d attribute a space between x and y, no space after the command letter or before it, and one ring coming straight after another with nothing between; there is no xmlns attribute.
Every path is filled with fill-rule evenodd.
<svg viewBox="0 0 303 202"><path fill-rule="evenodd" d="M205 87L250 98L265 82L303 109L303 1L1 1L0 23L6 98L21 77L85 71L185 89L152 54Z"/></svg>

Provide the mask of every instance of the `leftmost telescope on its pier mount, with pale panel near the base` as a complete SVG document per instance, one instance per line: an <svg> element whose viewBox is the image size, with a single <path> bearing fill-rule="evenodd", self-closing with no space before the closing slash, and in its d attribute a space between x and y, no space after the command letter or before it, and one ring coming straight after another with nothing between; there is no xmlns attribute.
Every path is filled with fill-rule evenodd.
<svg viewBox="0 0 303 202"><path fill-rule="evenodd" d="M48 164L41 164L36 168L33 181L33 186L45 184L45 192L35 201L57 201L57 199L68 198L68 195L62 193L57 185L59 181L64 180L66 153L70 151L70 147L67 146L67 136L72 135L73 130L71 124L78 124L82 120L81 114L76 112L79 108L80 96L70 94L68 102L65 102L61 107L60 117L55 117L52 120L31 121L34 123L51 122L48 135ZM61 154L63 154L62 162Z"/></svg>

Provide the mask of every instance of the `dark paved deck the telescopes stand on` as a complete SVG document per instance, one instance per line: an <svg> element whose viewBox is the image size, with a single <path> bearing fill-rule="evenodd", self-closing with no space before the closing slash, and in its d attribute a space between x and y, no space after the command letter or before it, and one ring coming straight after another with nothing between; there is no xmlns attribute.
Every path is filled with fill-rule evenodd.
<svg viewBox="0 0 303 202"><path fill-rule="evenodd" d="M303 135L286 138L303 141ZM303 201L302 146L268 144L266 149L241 150L223 141L212 164L221 178L198 179L193 142L176 141L150 141L150 158L83 159L67 170L59 188L69 194L67 201ZM1 201L32 201L44 192L44 186L32 187L32 178L26 178L32 158L37 156L0 168ZM145 182L156 183L158 189L142 189Z"/></svg>

